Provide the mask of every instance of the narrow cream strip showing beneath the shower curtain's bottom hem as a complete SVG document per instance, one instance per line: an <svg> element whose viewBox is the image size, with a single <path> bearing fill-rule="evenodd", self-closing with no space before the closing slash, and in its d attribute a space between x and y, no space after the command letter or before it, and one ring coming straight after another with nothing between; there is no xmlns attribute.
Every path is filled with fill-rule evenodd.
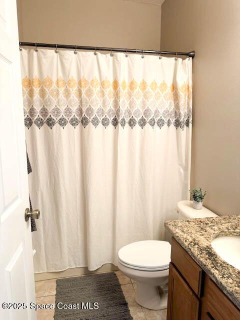
<svg viewBox="0 0 240 320"><path fill-rule="evenodd" d="M116 271L116 270L118 270L117 266L115 266L112 263L106 263L94 271L89 271L87 267L84 266L80 268L66 269L64 271L59 271L59 272L35 273L34 277L35 277L35 281L41 281L41 280L64 278L68 276L79 276L83 274L102 273L102 272L109 272L109 271Z"/></svg>

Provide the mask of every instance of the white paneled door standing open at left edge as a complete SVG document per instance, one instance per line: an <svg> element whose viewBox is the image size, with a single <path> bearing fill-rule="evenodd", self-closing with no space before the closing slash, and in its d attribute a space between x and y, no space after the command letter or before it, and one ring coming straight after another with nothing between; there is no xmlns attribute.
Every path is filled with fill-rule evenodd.
<svg viewBox="0 0 240 320"><path fill-rule="evenodd" d="M33 320L35 301L16 0L0 0L0 319ZM3 309L28 303L26 309ZM3 307L2 307L3 306ZM11 305L10 305L11 306ZM15 308L17 305L12 305Z"/></svg>

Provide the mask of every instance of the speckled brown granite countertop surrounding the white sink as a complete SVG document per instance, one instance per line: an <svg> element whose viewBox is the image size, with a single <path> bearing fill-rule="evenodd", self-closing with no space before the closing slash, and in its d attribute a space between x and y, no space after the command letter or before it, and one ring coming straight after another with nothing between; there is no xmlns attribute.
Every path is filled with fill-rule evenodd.
<svg viewBox="0 0 240 320"><path fill-rule="evenodd" d="M171 220L165 227L240 309L240 270L225 262L210 243L218 235L240 235L240 215Z"/></svg>

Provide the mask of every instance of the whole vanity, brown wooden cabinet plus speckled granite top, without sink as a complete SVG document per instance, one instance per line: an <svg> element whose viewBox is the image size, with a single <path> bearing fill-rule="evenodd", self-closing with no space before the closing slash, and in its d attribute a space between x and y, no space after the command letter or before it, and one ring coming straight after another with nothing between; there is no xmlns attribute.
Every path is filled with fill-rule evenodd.
<svg viewBox="0 0 240 320"><path fill-rule="evenodd" d="M240 215L166 221L172 235L167 320L239 320L240 271L211 240L240 235Z"/></svg>

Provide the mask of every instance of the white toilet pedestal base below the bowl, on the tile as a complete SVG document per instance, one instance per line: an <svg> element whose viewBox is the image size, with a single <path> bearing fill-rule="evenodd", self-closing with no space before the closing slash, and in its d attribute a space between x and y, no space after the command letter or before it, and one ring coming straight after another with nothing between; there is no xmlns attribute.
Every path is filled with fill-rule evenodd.
<svg viewBox="0 0 240 320"><path fill-rule="evenodd" d="M167 307L167 290L160 286L150 285L145 282L136 282L135 300L144 308L161 310Z"/></svg>

